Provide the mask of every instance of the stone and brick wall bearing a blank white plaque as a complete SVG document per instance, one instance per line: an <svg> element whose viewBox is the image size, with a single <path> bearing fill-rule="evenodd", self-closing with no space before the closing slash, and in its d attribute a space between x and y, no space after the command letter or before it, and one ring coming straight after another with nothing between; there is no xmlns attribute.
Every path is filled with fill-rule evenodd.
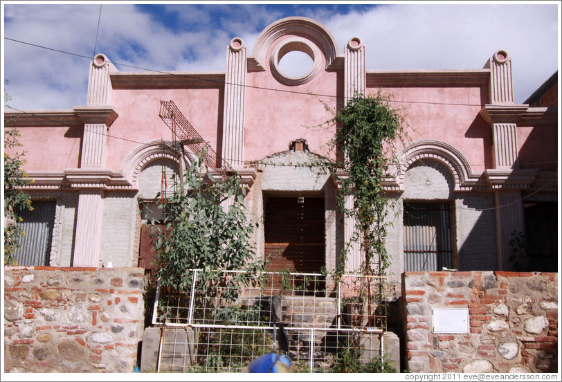
<svg viewBox="0 0 562 382"><path fill-rule="evenodd" d="M557 273L406 272L412 372L557 372ZM468 334L433 333L432 308L466 308Z"/></svg>

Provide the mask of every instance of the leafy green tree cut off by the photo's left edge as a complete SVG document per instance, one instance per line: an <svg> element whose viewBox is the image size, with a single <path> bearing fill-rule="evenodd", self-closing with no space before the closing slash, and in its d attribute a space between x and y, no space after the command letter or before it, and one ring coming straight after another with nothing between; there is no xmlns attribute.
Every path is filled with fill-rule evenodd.
<svg viewBox="0 0 562 382"><path fill-rule="evenodd" d="M10 96L4 92L4 104ZM12 121L5 121L10 125ZM4 265L15 265L14 253L19 248L19 236L24 234L19 223L22 219L19 211L22 209L33 210L29 195L21 191L21 187L31 183L24 171L25 152L15 152L15 147L21 147L17 129L4 130ZM8 154L10 151L10 154Z"/></svg>

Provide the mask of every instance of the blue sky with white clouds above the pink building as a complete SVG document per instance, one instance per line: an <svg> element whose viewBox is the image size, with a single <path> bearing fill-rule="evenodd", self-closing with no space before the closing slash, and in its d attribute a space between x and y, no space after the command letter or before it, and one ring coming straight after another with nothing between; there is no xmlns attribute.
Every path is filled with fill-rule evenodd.
<svg viewBox="0 0 562 382"><path fill-rule="evenodd" d="M368 71L481 69L505 50L513 60L515 102L522 103L559 68L559 6L4 1L2 86L8 80L8 104L16 109L72 109L86 104L87 57L95 53L104 53L120 71L224 72L230 39L242 37L252 55L266 26L302 16L332 32L339 54L351 37L360 37ZM289 73L290 62L282 64Z"/></svg>

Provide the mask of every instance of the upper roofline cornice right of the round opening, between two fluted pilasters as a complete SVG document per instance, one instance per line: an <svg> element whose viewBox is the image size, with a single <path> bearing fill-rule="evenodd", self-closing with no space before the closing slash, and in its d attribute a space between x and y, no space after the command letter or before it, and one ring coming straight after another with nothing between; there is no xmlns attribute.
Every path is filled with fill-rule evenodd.
<svg viewBox="0 0 562 382"><path fill-rule="evenodd" d="M481 87L489 79L489 69L367 71L367 87Z"/></svg>

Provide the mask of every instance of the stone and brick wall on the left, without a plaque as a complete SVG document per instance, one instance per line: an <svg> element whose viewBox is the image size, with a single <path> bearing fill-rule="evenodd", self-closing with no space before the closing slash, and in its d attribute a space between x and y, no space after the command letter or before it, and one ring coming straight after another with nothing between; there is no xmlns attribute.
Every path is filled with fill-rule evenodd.
<svg viewBox="0 0 562 382"><path fill-rule="evenodd" d="M141 268L4 269L5 372L132 372L144 327Z"/></svg>

